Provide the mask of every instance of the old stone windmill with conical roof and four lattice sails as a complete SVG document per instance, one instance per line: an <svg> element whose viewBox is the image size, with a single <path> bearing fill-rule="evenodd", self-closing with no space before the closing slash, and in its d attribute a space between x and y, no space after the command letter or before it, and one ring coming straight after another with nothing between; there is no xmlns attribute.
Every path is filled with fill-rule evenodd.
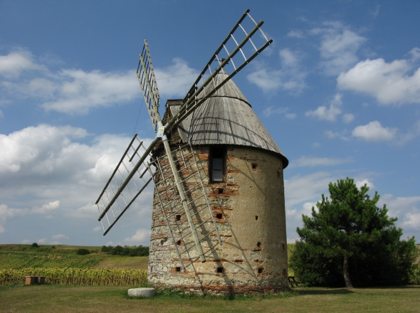
<svg viewBox="0 0 420 313"><path fill-rule="evenodd" d="M154 185L152 285L213 292L287 287L288 160L231 80L271 44L262 25L247 10L184 99L167 101L163 117L145 41L137 78L157 134L148 146L132 138L96 205L106 235ZM250 179L252 190L241 193Z"/></svg>

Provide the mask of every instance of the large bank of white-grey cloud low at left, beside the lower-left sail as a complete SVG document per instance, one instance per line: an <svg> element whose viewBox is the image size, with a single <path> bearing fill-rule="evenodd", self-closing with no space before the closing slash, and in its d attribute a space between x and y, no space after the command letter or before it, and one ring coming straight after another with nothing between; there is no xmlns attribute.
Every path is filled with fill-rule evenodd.
<svg viewBox="0 0 420 313"><path fill-rule="evenodd" d="M79 142L89 137L85 129L48 124L0 134L1 232L12 218L34 214L95 222L93 203L130 137L105 134ZM146 145L152 141L142 140ZM152 193L144 196L139 203L151 207Z"/></svg>

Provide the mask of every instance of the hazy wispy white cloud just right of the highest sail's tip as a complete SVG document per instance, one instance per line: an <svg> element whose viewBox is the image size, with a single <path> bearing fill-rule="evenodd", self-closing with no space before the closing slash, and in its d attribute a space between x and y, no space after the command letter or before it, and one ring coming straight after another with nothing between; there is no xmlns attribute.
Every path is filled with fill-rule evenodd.
<svg viewBox="0 0 420 313"><path fill-rule="evenodd" d="M350 31L340 22L325 22L310 32L321 37L320 63L326 75L338 75L357 63L357 51L366 38Z"/></svg>

